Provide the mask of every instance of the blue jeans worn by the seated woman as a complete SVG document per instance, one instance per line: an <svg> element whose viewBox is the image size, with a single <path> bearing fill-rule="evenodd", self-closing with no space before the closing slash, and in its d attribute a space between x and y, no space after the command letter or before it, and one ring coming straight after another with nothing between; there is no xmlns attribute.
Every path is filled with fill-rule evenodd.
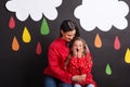
<svg viewBox="0 0 130 87"><path fill-rule="evenodd" d="M67 83L63 83L55 77L44 75L43 87L73 87L73 85L67 84Z"/></svg>

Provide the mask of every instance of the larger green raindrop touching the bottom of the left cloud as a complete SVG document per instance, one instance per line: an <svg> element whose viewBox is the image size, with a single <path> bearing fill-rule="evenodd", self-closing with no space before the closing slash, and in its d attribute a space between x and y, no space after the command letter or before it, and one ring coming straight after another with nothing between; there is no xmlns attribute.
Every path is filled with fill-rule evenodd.
<svg viewBox="0 0 130 87"><path fill-rule="evenodd" d="M43 21L42 21L42 25L41 25L41 28L40 28L40 33L41 35L48 35L49 34L49 25L47 23L47 20L43 17Z"/></svg>

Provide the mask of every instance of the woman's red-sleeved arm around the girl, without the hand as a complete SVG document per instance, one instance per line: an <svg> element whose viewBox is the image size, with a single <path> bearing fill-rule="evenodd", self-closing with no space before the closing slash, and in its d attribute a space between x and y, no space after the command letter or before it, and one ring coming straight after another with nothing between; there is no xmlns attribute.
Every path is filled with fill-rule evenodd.
<svg viewBox="0 0 130 87"><path fill-rule="evenodd" d="M60 59L62 58L60 57L55 47L50 46L48 57L51 74L65 83L72 83L72 74L65 72L64 69L61 67L63 66L63 64L60 63Z"/></svg>

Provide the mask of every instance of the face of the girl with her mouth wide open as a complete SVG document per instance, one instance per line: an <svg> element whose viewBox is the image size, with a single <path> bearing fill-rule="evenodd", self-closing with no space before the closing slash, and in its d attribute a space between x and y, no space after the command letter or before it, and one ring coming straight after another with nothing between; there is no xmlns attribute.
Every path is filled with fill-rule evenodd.
<svg viewBox="0 0 130 87"><path fill-rule="evenodd" d="M81 40L76 40L73 45L72 50L83 51L83 42Z"/></svg>

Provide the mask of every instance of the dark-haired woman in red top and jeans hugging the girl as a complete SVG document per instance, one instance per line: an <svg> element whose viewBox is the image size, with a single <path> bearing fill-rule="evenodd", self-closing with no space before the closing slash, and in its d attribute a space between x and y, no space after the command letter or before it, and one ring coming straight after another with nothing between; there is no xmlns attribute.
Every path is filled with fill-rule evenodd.
<svg viewBox="0 0 130 87"><path fill-rule="evenodd" d="M60 26L60 37L49 47L48 66L43 71L43 87L73 87L72 82L86 79L84 75L75 75L64 71L65 60L69 54L69 42L79 37L75 22L65 20Z"/></svg>

